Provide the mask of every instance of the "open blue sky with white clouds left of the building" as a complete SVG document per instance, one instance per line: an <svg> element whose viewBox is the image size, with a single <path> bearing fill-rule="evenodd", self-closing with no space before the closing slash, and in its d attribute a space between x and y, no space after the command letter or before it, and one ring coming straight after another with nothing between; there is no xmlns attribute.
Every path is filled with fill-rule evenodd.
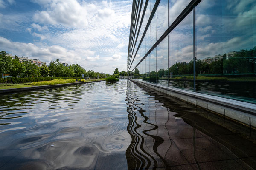
<svg viewBox="0 0 256 170"><path fill-rule="evenodd" d="M126 71L131 8L132 0L0 0L0 51Z"/></svg>

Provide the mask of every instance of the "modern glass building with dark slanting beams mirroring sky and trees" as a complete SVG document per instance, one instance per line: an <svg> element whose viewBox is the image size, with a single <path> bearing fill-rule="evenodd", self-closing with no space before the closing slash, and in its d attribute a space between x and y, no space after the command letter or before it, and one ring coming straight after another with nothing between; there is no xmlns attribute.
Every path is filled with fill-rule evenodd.
<svg viewBox="0 0 256 170"><path fill-rule="evenodd" d="M256 0L134 0L127 70L256 104Z"/></svg>

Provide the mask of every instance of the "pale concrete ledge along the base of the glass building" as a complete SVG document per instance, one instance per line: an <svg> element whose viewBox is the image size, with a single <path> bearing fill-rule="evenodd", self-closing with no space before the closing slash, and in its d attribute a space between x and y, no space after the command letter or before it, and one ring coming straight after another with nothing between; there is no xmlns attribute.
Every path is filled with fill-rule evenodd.
<svg viewBox="0 0 256 170"><path fill-rule="evenodd" d="M256 105L232 99L226 99L207 94L185 91L177 88L170 88L163 85L156 85L148 82L129 79L138 85L159 91L160 93L180 99L184 102L204 108L208 111L218 113L224 118L230 118L248 126L256 127Z"/></svg>

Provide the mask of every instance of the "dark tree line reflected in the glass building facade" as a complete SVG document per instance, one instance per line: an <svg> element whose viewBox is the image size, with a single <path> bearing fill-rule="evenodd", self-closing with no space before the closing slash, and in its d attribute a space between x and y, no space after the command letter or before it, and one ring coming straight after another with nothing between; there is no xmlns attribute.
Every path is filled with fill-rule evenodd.
<svg viewBox="0 0 256 170"><path fill-rule="evenodd" d="M181 62L173 64L168 69L151 71L150 73L140 74L137 68L134 70L134 77L151 77L158 75L159 77L168 77L172 73L173 76L193 75L193 60L183 64ZM250 50L238 51L234 56L227 58L227 54L222 59L211 63L203 62L195 58L195 74L255 74L256 73L256 47Z"/></svg>

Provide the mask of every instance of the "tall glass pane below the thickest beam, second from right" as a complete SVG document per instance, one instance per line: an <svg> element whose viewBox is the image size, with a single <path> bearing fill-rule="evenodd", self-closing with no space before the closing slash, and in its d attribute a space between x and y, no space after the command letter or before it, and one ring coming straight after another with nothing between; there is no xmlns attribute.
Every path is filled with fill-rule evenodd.
<svg viewBox="0 0 256 170"><path fill-rule="evenodd" d="M169 34L168 85L194 91L192 12Z"/></svg>

